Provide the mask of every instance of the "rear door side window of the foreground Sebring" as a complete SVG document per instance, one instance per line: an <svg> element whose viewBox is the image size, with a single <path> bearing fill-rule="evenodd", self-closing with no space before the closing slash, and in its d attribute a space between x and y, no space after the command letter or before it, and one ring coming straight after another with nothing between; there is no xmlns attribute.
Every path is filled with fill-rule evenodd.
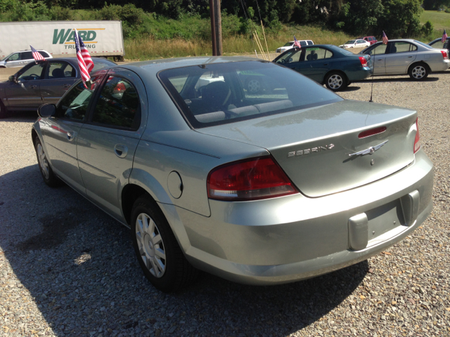
<svg viewBox="0 0 450 337"><path fill-rule="evenodd" d="M110 76L101 89L93 123L119 128L139 128L141 110L136 88L122 77Z"/></svg>

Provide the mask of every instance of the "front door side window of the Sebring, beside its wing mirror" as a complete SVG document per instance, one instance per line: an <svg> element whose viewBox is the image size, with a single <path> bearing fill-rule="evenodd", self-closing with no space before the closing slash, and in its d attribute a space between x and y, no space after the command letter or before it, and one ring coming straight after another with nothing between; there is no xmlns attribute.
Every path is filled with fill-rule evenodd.
<svg viewBox="0 0 450 337"><path fill-rule="evenodd" d="M72 86L56 107L56 117L82 121L86 116L92 95L102 79L102 76L93 77L89 88L86 88L82 81Z"/></svg>

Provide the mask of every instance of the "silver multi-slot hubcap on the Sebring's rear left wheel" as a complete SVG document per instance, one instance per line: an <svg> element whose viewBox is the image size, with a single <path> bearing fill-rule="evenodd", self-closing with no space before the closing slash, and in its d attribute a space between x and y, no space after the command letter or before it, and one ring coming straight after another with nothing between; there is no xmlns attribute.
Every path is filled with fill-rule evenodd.
<svg viewBox="0 0 450 337"><path fill-rule="evenodd" d="M146 213L136 219L136 239L143 263L154 277L162 277L166 270L166 253L160 230Z"/></svg>

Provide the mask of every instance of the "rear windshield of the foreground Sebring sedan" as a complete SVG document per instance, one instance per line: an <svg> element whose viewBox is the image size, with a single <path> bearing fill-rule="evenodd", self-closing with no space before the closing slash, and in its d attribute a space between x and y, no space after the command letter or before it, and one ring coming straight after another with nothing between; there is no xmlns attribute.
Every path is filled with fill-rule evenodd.
<svg viewBox="0 0 450 337"><path fill-rule="evenodd" d="M194 128L342 100L315 81L264 61L174 68L163 70L158 77Z"/></svg>

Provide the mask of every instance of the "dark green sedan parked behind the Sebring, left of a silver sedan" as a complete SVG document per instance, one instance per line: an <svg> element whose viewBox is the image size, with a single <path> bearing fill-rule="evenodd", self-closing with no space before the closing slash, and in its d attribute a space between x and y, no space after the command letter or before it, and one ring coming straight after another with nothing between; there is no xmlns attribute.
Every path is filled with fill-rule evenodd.
<svg viewBox="0 0 450 337"><path fill-rule="evenodd" d="M366 79L372 74L369 55L361 57L331 44L290 49L273 62L325 84L332 91L340 91L352 81Z"/></svg>

